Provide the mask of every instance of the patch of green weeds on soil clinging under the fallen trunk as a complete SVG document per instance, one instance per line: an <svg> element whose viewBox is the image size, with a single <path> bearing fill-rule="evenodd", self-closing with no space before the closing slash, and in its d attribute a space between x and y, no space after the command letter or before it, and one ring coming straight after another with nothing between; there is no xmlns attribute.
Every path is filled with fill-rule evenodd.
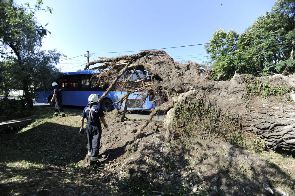
<svg viewBox="0 0 295 196"><path fill-rule="evenodd" d="M191 139L196 136L202 139L222 138L232 145L248 149L251 139L239 130L239 120L230 119L225 113L218 108L211 107L209 102L202 99L182 101L174 110L174 118L177 121L184 121L185 127L174 129L178 140L186 146L191 145Z"/></svg>

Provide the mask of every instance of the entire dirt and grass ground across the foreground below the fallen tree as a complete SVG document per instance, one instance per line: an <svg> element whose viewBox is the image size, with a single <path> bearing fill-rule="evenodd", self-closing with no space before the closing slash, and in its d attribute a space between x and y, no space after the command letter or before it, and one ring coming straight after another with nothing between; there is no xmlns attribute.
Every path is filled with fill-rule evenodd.
<svg viewBox="0 0 295 196"><path fill-rule="evenodd" d="M52 118L51 108L39 112L20 133L1 135L2 195L294 195L294 158L255 153L241 134L226 142L196 127L192 134L180 122L176 129L191 135L166 142L163 122L151 121L133 142L145 120L118 122L113 111L102 129L100 167L89 168L86 135L78 134L81 113ZM258 150L263 144L254 139L249 145Z"/></svg>

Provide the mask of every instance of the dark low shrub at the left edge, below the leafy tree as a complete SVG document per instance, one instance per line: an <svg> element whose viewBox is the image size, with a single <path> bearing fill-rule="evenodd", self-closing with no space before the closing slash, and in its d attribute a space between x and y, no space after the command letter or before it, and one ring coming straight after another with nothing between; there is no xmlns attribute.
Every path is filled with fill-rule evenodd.
<svg viewBox="0 0 295 196"><path fill-rule="evenodd" d="M25 105L24 98L17 100L4 97L0 99L0 121L23 118L28 114L28 108Z"/></svg>

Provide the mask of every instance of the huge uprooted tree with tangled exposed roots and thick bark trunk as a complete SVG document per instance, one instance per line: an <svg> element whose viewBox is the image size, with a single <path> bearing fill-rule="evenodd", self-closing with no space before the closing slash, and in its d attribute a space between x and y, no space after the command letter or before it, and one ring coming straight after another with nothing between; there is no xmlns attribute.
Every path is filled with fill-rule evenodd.
<svg viewBox="0 0 295 196"><path fill-rule="evenodd" d="M159 59L155 60L151 56L158 56ZM230 81L217 82L208 79L214 74L214 70L206 65L196 62L174 64L173 59L163 50L145 50L130 56L99 58L87 63L84 68L89 69L91 65L104 63L91 68L101 71L97 75L98 85L109 85L99 101L113 88L127 91L114 104L122 104L135 92L140 92L144 98L150 94L156 98L154 102L157 107L150 111L148 120L138 129L135 139L140 137L158 112L167 113L163 120L163 131L166 132L166 140L173 139L175 122L180 120L175 119L174 109L182 101L186 103L188 100L205 100L214 110L221 111L238 122L239 129L263 139L270 149L295 154L295 97L292 94L294 75L252 77L235 74ZM135 70L147 70L148 75L139 81L130 80L130 77L122 78L126 72L136 74ZM134 86L137 88L133 88Z"/></svg>

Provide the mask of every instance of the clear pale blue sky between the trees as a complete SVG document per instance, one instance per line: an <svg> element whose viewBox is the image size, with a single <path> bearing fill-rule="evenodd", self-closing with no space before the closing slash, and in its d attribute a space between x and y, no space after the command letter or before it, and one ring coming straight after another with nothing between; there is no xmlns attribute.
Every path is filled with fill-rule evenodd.
<svg viewBox="0 0 295 196"><path fill-rule="evenodd" d="M17 4L36 0L16 0ZM258 16L271 11L275 0L43 0L53 13L38 12L37 20L51 32L43 50L56 48L61 71L76 71L97 57L132 55L134 50L208 43L221 28L242 33ZM165 49L174 61L206 61L204 45ZM120 52L105 53L102 52ZM91 67L90 67L91 68Z"/></svg>

